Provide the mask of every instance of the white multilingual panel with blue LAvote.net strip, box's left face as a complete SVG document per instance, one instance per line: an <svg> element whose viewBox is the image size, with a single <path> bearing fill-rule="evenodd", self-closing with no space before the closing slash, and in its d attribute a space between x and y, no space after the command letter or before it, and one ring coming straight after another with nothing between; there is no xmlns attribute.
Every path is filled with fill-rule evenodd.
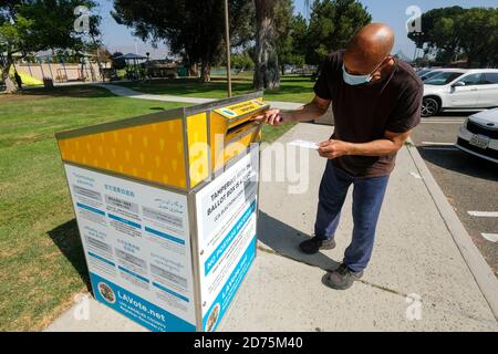
<svg viewBox="0 0 498 354"><path fill-rule="evenodd" d="M187 197L65 171L95 299L152 331L196 331Z"/></svg>

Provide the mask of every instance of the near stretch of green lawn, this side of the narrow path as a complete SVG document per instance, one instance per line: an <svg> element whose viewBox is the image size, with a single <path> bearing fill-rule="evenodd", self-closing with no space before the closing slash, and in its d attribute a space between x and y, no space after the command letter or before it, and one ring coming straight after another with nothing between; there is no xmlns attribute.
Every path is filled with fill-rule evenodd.
<svg viewBox="0 0 498 354"><path fill-rule="evenodd" d="M0 331L41 330L89 287L53 134L180 105L91 86L0 95Z"/></svg>

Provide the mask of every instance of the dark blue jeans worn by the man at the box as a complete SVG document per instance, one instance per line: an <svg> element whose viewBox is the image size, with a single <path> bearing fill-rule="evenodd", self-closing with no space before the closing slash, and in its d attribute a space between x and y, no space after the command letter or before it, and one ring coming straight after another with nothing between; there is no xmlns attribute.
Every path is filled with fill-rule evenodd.
<svg viewBox="0 0 498 354"><path fill-rule="evenodd" d="M321 239L333 239L338 230L341 209L350 186L353 190L353 240L344 254L344 264L352 271L363 271L370 262L375 229L390 177L359 178L326 164L320 186L320 202L314 233Z"/></svg>

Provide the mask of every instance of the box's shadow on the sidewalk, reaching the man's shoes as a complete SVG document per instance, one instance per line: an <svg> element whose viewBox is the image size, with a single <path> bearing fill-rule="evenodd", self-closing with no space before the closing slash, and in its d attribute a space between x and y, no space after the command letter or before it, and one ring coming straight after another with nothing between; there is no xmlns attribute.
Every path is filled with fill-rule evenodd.
<svg viewBox="0 0 498 354"><path fill-rule="evenodd" d="M313 256L302 253L299 249L299 243L311 237L272 218L266 212L259 214L258 235L262 243L283 257L321 268L324 271L339 268L340 263L321 252Z"/></svg>

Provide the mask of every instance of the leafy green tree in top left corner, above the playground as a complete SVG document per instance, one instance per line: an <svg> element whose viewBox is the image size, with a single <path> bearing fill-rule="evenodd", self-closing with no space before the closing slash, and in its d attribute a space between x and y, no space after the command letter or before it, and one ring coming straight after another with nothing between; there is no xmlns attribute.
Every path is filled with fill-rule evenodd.
<svg viewBox="0 0 498 354"><path fill-rule="evenodd" d="M1 77L7 92L14 92L10 79L13 55L25 58L31 52L55 49L84 48L83 37L76 33L74 10L95 7L92 0L2 0L0 2L0 60ZM100 18L89 19L92 35L98 33Z"/></svg>

